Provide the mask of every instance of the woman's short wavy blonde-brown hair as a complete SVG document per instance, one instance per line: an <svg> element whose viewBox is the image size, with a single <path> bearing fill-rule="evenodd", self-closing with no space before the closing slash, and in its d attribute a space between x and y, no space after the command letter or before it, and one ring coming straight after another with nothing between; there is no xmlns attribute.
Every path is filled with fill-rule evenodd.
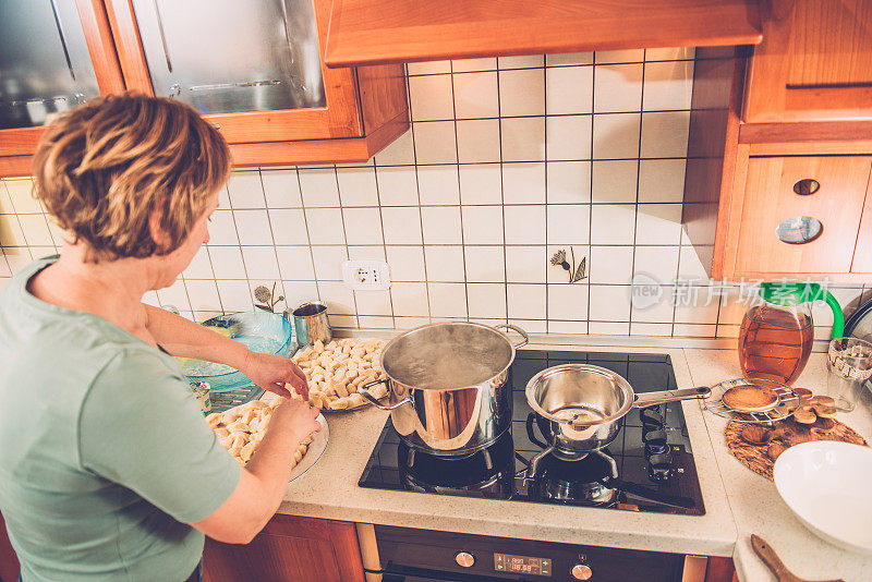
<svg viewBox="0 0 872 582"><path fill-rule="evenodd" d="M94 99L46 128L34 156L35 195L87 260L178 248L230 177L230 151L191 107L122 94ZM152 237L157 213L165 244Z"/></svg>

